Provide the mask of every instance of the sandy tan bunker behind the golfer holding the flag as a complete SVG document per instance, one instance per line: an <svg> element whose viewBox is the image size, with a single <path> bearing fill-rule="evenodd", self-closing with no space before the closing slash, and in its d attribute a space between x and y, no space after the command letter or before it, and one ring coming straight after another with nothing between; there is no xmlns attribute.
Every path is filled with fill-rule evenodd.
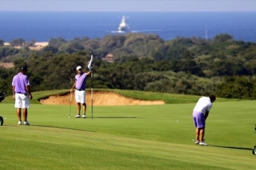
<svg viewBox="0 0 256 170"><path fill-rule="evenodd" d="M48 99L40 99L43 105L69 105L70 94L50 96ZM91 95L86 92L86 104L90 105ZM74 94L72 95L72 105L75 105ZM94 92L93 105L165 105L164 101L146 101L139 99L125 98L113 92Z"/></svg>

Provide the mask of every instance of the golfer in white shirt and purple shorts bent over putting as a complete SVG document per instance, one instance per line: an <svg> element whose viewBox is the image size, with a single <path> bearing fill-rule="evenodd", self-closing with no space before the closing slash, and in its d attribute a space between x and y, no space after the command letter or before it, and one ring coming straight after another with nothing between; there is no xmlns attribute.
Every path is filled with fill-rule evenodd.
<svg viewBox="0 0 256 170"><path fill-rule="evenodd" d="M205 127L207 116L212 108L212 103L216 97L210 95L209 97L201 97L193 110L193 120L195 123L195 144L208 145L204 142Z"/></svg>

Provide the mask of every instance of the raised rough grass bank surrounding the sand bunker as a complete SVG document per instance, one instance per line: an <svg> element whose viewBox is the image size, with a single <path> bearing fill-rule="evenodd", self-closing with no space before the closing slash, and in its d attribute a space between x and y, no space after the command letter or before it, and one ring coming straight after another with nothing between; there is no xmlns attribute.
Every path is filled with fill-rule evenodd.
<svg viewBox="0 0 256 170"><path fill-rule="evenodd" d="M133 99L141 99L141 100L162 100L166 104L189 104L195 103L200 96L196 95L185 95L185 94L163 94L163 93L155 93L155 92L144 92L144 91L131 91L131 90L119 90L119 89L94 89L94 92L97 91L105 91L105 92L113 92L117 94L121 94L128 98ZM87 92L90 93L90 89L87 89ZM61 95L61 94L68 94L69 89L65 90L51 90L51 91L41 91L32 93L33 99L31 101L32 104L39 104L38 99L45 99L50 95ZM239 101L242 99L223 99L217 97L217 102L223 101ZM14 103L14 99L12 96L6 97L3 100L3 103Z"/></svg>

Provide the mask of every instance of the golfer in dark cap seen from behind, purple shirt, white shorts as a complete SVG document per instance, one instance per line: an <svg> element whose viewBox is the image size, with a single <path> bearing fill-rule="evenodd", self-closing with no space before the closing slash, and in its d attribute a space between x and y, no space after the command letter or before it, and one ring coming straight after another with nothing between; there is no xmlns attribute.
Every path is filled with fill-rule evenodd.
<svg viewBox="0 0 256 170"><path fill-rule="evenodd" d="M19 119L18 124L21 125L21 109L23 109L24 125L30 125L27 122L27 108L29 108L29 99L32 99L32 94L30 92L29 80L26 76L27 68L21 67L20 73L15 75L13 78L13 98L15 99L15 108L17 108L17 116Z"/></svg>

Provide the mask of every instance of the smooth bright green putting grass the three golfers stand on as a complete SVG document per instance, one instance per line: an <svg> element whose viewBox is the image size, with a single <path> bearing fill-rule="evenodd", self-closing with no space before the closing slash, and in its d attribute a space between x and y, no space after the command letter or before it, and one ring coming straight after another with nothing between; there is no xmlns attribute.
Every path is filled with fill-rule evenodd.
<svg viewBox="0 0 256 170"><path fill-rule="evenodd" d="M0 169L254 169L256 101L216 102L206 143L195 145L193 104L97 106L75 119L72 105L32 104L17 124L1 104ZM178 122L177 122L178 120Z"/></svg>

